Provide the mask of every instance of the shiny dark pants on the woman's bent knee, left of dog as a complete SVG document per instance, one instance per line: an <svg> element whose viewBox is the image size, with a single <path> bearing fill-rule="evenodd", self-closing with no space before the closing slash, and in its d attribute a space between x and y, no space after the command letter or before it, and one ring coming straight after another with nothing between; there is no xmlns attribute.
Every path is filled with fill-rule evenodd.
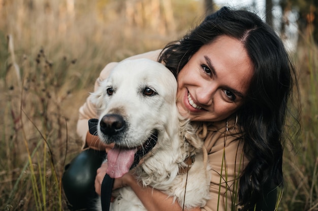
<svg viewBox="0 0 318 211"><path fill-rule="evenodd" d="M96 171L105 157L105 151L87 149L65 166L62 186L70 210L92 210L98 197L94 188Z"/></svg>

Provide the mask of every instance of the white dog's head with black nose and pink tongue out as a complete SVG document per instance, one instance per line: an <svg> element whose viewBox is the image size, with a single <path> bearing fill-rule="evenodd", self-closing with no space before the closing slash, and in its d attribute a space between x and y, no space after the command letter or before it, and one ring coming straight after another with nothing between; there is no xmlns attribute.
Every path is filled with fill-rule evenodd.
<svg viewBox="0 0 318 211"><path fill-rule="evenodd" d="M99 111L98 135L107 144L115 143L108 153L108 168L116 165L108 173L111 177L129 170L136 151L145 153L158 137L169 140L167 136L178 133L176 91L177 82L169 69L138 59L118 63L92 93L91 101Z"/></svg>

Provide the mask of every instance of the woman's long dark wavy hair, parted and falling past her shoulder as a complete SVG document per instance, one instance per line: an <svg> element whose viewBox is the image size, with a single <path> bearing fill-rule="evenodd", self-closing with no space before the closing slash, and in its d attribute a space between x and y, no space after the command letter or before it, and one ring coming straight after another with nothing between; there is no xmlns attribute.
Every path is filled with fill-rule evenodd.
<svg viewBox="0 0 318 211"><path fill-rule="evenodd" d="M207 16L181 40L168 44L158 61L177 77L192 55L221 35L240 40L254 67L245 102L237 111L244 131L244 152L250 156L240 177L239 204L241 210L253 210L262 200L267 181L283 184L284 128L293 87L298 92L296 71L270 26L252 12L227 7Z"/></svg>

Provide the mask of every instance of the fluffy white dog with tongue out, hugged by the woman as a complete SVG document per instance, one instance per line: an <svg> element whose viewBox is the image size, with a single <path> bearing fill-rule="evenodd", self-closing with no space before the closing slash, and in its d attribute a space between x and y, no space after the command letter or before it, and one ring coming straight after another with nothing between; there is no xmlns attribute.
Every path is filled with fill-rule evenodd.
<svg viewBox="0 0 318 211"><path fill-rule="evenodd" d="M163 64L138 59L116 65L91 98L99 111L100 139L115 143L107 174L118 178L132 169L140 184L190 209L209 199L210 173L202 140L178 114L176 92L176 79ZM134 161L135 154L144 156ZM110 210L146 210L130 187L112 194Z"/></svg>

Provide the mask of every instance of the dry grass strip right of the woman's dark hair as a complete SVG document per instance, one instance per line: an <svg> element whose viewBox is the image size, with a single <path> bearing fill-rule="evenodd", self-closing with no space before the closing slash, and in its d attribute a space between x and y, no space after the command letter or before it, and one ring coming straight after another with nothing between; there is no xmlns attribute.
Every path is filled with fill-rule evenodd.
<svg viewBox="0 0 318 211"><path fill-rule="evenodd" d="M302 132L296 148L290 147L284 154L287 187L281 210L318 210L318 48L310 35L300 35L304 44L298 47L295 61L299 70Z"/></svg>

